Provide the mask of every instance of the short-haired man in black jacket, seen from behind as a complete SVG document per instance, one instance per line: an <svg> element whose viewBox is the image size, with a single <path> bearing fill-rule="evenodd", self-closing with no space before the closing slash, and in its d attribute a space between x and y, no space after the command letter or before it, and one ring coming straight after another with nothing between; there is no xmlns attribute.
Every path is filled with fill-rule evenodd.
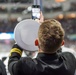
<svg viewBox="0 0 76 75"><path fill-rule="evenodd" d="M64 36L64 29L57 20L44 21L35 40L35 45L39 48L36 58L21 57L23 49L17 44L13 45L8 61L11 75L74 75L74 55L69 52L57 52L64 44Z"/></svg>

